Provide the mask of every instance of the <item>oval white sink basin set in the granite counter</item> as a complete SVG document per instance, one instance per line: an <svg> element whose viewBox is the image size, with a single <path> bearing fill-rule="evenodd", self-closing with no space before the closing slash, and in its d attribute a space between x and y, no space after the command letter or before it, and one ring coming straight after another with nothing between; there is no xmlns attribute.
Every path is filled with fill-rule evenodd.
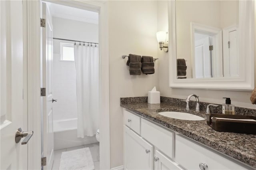
<svg viewBox="0 0 256 170"><path fill-rule="evenodd" d="M158 112L159 115L170 117L173 119L181 119L181 120L187 120L187 121L202 121L205 120L204 118L192 115L190 113L182 113L182 112Z"/></svg>

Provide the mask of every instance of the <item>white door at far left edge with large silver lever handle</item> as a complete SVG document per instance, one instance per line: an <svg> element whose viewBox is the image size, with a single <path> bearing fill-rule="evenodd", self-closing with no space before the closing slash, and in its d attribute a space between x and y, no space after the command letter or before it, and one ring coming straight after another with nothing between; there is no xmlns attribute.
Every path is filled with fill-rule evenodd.
<svg viewBox="0 0 256 170"><path fill-rule="evenodd" d="M23 101L22 1L0 1L0 169L28 168L28 144L15 142L18 128L27 131ZM26 96L26 95L24 95ZM29 143L29 142L28 142Z"/></svg>

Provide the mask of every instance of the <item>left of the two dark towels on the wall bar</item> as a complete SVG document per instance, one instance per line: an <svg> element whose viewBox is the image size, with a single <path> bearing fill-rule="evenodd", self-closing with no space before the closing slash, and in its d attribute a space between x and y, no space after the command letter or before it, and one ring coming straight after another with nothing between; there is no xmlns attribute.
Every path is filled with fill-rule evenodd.
<svg viewBox="0 0 256 170"><path fill-rule="evenodd" d="M141 74L141 56L135 54L129 54L128 61L126 63L129 68L130 75Z"/></svg>

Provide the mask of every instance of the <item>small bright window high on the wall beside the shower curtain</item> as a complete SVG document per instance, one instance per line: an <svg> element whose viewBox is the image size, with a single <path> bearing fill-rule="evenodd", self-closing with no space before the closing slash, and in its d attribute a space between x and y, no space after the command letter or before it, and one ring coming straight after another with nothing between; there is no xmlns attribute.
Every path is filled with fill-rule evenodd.
<svg viewBox="0 0 256 170"><path fill-rule="evenodd" d="M74 45L71 43L60 43L60 60L75 61Z"/></svg>

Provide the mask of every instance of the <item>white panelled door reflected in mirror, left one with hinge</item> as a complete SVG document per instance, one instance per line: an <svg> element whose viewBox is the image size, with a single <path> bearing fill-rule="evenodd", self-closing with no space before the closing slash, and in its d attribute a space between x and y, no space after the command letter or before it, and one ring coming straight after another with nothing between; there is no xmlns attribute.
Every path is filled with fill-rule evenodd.
<svg viewBox="0 0 256 170"><path fill-rule="evenodd" d="M209 37L195 41L195 73L196 78L211 76L211 60Z"/></svg>

